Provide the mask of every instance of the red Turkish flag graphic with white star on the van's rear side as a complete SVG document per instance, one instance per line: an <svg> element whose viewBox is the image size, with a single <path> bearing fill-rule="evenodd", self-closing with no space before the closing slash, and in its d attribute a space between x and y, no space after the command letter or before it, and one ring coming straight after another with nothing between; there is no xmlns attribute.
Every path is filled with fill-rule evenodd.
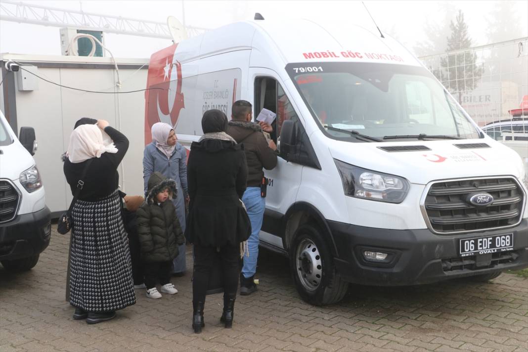
<svg viewBox="0 0 528 352"><path fill-rule="evenodd" d="M176 126L184 106L182 93L182 65L173 63L177 44L150 56L147 88L145 91L145 145L152 141L150 128L156 122Z"/></svg>

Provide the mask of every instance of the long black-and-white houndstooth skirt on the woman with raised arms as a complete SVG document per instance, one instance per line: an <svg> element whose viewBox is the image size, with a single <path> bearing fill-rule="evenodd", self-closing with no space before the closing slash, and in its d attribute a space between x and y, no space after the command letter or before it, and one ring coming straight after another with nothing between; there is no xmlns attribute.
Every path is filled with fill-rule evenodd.
<svg viewBox="0 0 528 352"><path fill-rule="evenodd" d="M70 303L89 312L136 303L128 238L117 190L97 202L73 206Z"/></svg>

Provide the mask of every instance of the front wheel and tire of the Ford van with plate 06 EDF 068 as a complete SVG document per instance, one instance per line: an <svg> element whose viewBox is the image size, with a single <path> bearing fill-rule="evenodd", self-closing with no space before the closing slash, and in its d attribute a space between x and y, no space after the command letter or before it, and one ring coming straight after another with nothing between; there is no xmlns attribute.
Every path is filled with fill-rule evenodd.
<svg viewBox="0 0 528 352"><path fill-rule="evenodd" d="M335 271L333 255L323 237L312 225L303 225L290 246L290 270L299 296L314 306L325 306L343 299L348 282Z"/></svg>

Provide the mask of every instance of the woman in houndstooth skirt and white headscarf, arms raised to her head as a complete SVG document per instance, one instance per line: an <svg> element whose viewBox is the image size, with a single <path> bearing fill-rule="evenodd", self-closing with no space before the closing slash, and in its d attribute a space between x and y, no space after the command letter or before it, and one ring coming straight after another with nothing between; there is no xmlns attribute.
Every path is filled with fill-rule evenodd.
<svg viewBox="0 0 528 352"><path fill-rule="evenodd" d="M103 131L113 143L103 140ZM98 120L73 130L64 161L72 195L82 185L72 209L70 303L73 319L88 324L113 319L136 302L118 194L117 167L127 149L127 137Z"/></svg>

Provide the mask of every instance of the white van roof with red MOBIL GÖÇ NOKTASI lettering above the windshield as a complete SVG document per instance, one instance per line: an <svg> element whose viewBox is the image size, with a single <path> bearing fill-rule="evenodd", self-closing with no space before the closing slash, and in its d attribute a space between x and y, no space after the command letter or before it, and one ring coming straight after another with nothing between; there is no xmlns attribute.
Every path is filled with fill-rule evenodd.
<svg viewBox="0 0 528 352"><path fill-rule="evenodd" d="M191 41L196 42L192 45ZM200 48L201 57L226 51L256 49L262 55L279 56L284 63L331 61L421 65L392 37L385 35L383 39L377 31L353 24L316 23L310 20L244 21L211 30L184 42L185 47L191 44L195 49Z"/></svg>

